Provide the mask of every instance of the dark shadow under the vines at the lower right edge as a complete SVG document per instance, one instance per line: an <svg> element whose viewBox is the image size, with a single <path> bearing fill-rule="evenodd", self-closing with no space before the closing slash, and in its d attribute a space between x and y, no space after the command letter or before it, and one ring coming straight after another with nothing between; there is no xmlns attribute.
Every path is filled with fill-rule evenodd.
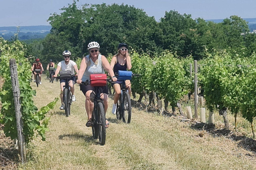
<svg viewBox="0 0 256 170"><path fill-rule="evenodd" d="M214 124L198 123L192 122L190 126L192 129L205 130L210 133L213 137L224 136L232 141L238 142L237 146L242 147L247 151L253 152L253 155L249 154L247 156L256 157L256 140L246 137L242 133L234 132L229 129L216 129ZM200 136L200 133L199 133ZM202 137L202 136L200 136Z"/></svg>

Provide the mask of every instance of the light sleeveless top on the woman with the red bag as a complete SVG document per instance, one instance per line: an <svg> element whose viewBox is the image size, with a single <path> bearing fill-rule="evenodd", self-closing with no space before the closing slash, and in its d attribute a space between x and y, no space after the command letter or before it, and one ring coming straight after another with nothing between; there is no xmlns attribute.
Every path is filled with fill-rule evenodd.
<svg viewBox="0 0 256 170"><path fill-rule="evenodd" d="M99 54L98 56L98 64L96 65L91 57L89 57L89 55L86 55L85 57L87 57L88 61L90 60L91 63L90 65L87 65L86 70L84 72L84 75L82 77L82 81L86 81L86 80L90 80L90 75L91 74L105 74L104 73L104 67L102 65L102 60L101 60L101 54Z"/></svg>

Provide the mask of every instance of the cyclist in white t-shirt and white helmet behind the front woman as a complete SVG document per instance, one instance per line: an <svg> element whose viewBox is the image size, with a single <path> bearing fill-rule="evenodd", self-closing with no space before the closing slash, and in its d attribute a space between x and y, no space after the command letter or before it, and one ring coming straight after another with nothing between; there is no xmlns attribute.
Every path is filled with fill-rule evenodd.
<svg viewBox="0 0 256 170"><path fill-rule="evenodd" d="M55 75L54 77L57 77L57 75L59 74L60 71L71 71L71 75L74 75L76 71L76 73L78 74L78 68L77 68L77 64L70 60L71 57L71 52L68 50L63 51L62 53L64 60L59 62L57 65L57 69L55 71ZM63 103L63 86L65 85L65 81L66 80L60 80L60 99L61 99L61 110L64 110L64 103ZM75 97L75 84L76 78L74 76L72 76L70 79L68 79L68 83L69 83L69 87L70 87L70 91L72 93L72 101L75 102L76 101L76 97Z"/></svg>

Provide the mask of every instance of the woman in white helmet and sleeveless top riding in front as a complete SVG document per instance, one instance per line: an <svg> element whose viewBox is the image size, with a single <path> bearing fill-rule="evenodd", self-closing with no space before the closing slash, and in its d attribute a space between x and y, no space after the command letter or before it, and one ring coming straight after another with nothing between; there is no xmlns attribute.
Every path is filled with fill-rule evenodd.
<svg viewBox="0 0 256 170"><path fill-rule="evenodd" d="M88 44L89 55L85 56L80 65L80 70L77 76L77 83L81 84L82 81L90 80L91 74L104 74L104 69L110 74L112 77L112 81L116 81L117 78L113 70L111 69L108 60L104 55L99 53L100 45L98 42L90 42ZM85 95L85 109L88 116L88 121L86 123L87 127L93 126L92 121L92 112L94 108L94 103L90 100L90 94L94 90L94 87L91 85L80 85L80 90ZM103 98L104 102L104 110L105 114L108 109L108 87L102 86L100 87L101 98ZM106 128L109 127L109 122L106 120Z"/></svg>

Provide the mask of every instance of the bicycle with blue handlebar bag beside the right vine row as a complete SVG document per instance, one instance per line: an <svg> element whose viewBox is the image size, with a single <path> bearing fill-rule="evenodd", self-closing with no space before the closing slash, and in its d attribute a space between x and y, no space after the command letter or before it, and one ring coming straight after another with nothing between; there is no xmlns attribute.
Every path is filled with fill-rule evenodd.
<svg viewBox="0 0 256 170"><path fill-rule="evenodd" d="M133 76L140 76L140 74L134 74L131 71L118 71L116 74L117 79L122 81L120 84L121 94L119 101L116 104L116 119L123 120L124 123L130 123L132 117L132 104L128 88L126 88L125 80L131 80Z"/></svg>

